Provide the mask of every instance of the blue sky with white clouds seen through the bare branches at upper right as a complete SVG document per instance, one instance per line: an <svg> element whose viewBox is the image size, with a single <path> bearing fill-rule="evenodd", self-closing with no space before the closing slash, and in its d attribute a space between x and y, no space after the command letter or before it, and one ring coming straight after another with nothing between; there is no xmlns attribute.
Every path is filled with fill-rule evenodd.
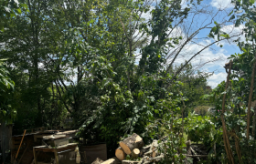
<svg viewBox="0 0 256 164"><path fill-rule="evenodd" d="M243 26L234 27L232 22L227 22L227 20L229 20L229 12L233 8L233 5L231 5L230 2L231 0L203 0L201 5L197 6L197 9L191 10L192 14L187 17L187 20L184 23L185 26L178 26L174 35L186 37L188 34L186 25L189 25L190 23L192 24L190 32L193 33L197 31L198 28L207 25L211 21L216 21L219 24L222 23L223 27L221 30L228 33L229 36L237 35L240 33ZM152 4L152 7L154 6L155 3ZM186 0L183 0L183 6L187 6ZM205 14L196 15L194 16L194 19L192 19L193 11L196 10L203 10ZM150 18L150 14L143 14L143 17L146 19ZM208 27L213 26L215 26L214 23ZM201 30L197 36L194 37L192 40L193 42L190 42L184 50L182 50L181 56L179 56L175 64L179 65L183 63L185 60L188 60L191 56L200 51L204 46L208 46L213 43L215 40L208 38L209 32L210 28ZM235 39L236 38L238 37L235 37ZM244 39L244 37L241 36L241 39ZM208 78L208 85L211 87L217 87L221 81L226 79L227 73L224 66L225 63L229 62L227 58L232 54L240 53L240 48L232 41L222 41L220 44L223 45L223 47L217 45L210 46L210 48L202 51L200 56L197 56L191 61L192 65L195 67L203 66L198 67L198 69L202 71L214 72L213 76ZM169 61L172 61L172 58L170 58Z"/></svg>

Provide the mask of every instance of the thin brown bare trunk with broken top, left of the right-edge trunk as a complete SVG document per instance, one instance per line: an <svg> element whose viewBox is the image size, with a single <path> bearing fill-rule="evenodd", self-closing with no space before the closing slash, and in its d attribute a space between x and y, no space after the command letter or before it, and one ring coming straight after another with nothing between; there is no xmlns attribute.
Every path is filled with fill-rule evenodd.
<svg viewBox="0 0 256 164"><path fill-rule="evenodd" d="M226 87L225 87L225 91L227 91L227 88L229 87L229 76L231 73L231 68L232 68L232 61L229 61L229 74L227 77L227 82L226 82ZM228 137L228 133L227 133L227 127L226 127L226 123L225 123L225 119L224 119L224 111L225 111L225 101L226 101L226 93L223 96L222 99L222 114L221 114L221 122L222 122L222 128L223 128L223 141L224 141L224 146L225 146L225 150L229 159L229 163L234 164L234 158L233 158L233 154L232 154L232 150L230 148L230 143L229 143L229 137Z"/></svg>

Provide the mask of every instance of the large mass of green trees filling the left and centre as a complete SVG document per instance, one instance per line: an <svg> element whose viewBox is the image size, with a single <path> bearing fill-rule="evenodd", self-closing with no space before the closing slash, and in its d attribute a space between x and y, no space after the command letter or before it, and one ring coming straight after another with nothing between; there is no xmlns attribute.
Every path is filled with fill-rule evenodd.
<svg viewBox="0 0 256 164"><path fill-rule="evenodd" d="M106 141L113 151L126 134L155 138L145 128L158 118L177 122L186 97L186 105L195 106L192 101L205 89L206 76L187 76L192 69L188 61L174 76L168 67L175 59L168 65L166 56L183 39L170 35L175 22L183 22L189 7L200 1L187 1L186 8L181 0L162 0L155 7L152 2L19 1L25 4L20 5L22 14L8 17L0 33L0 57L8 58L7 70L16 83L15 128L52 128L73 118L70 126L80 128L80 137ZM146 20L143 14L151 17ZM185 82L183 87L178 80Z"/></svg>

